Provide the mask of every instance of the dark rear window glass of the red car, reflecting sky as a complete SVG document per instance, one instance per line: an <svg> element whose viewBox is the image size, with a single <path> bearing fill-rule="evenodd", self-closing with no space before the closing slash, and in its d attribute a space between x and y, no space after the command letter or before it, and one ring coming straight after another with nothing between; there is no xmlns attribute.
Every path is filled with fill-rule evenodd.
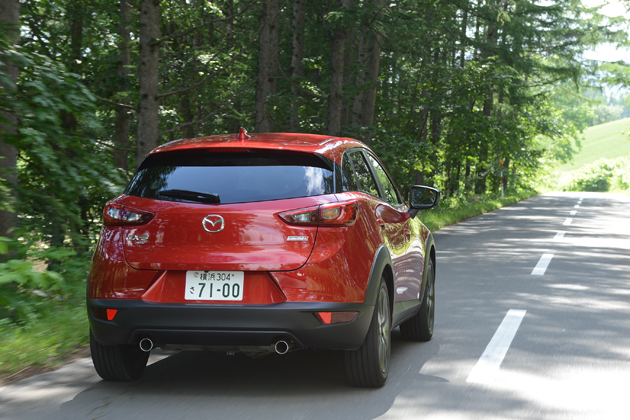
<svg viewBox="0 0 630 420"><path fill-rule="evenodd" d="M148 156L125 194L167 201L160 191L218 195L221 204L308 197L334 192L333 164L312 154L199 151Z"/></svg>

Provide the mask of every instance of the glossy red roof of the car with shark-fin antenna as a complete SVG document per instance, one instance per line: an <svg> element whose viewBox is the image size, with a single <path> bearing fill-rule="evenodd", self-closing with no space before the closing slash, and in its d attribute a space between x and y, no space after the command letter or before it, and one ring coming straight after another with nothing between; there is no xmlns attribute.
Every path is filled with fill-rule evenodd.
<svg viewBox="0 0 630 420"><path fill-rule="evenodd" d="M344 150L361 147L362 142L344 137L302 133L223 134L173 140L153 149L149 154L191 149L266 149L316 153L341 163Z"/></svg>

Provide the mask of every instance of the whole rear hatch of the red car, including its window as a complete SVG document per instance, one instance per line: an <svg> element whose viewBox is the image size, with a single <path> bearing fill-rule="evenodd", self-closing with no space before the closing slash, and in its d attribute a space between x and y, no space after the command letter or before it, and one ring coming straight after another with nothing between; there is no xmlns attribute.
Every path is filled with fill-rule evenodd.
<svg viewBox="0 0 630 420"><path fill-rule="evenodd" d="M335 200L333 185L332 164L313 154L150 155L114 204L148 220L125 225L125 257L137 269L295 270L308 260L317 227L278 214Z"/></svg>

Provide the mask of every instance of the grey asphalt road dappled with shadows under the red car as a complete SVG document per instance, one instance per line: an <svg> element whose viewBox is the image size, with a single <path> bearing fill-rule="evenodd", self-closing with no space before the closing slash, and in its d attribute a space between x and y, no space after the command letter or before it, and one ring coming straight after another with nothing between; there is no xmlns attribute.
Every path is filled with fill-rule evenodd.
<svg viewBox="0 0 630 420"><path fill-rule="evenodd" d="M630 419L628 197L544 194L435 237L434 339L395 330L382 389L332 352L155 352L134 383L83 359L2 387L0 418Z"/></svg>

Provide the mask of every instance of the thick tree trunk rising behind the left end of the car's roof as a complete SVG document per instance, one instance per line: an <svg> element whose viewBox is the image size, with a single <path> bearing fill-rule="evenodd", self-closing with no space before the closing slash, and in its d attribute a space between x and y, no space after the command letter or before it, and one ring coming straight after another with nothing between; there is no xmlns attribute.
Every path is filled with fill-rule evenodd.
<svg viewBox="0 0 630 420"><path fill-rule="evenodd" d="M160 35L159 0L140 0L140 62L138 144L136 166L159 145L158 63L159 45L151 45Z"/></svg>

